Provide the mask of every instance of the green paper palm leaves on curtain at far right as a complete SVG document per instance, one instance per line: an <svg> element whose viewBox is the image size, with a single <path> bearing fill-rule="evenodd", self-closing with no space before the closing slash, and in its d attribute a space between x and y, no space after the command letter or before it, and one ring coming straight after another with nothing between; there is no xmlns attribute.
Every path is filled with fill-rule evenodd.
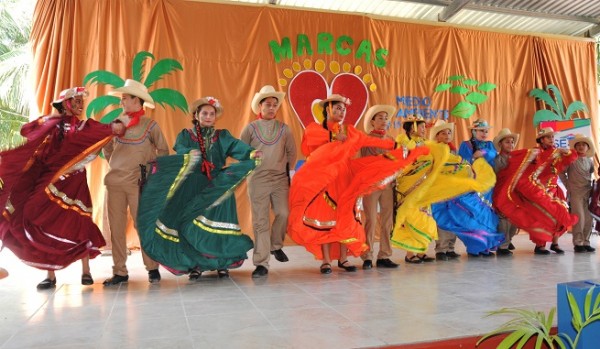
<svg viewBox="0 0 600 349"><path fill-rule="evenodd" d="M552 93L552 94L550 94ZM533 114L533 126L538 127L542 121L571 120L578 112L587 112L588 108L582 101L574 101L565 109L562 95L558 87L549 84L545 90L534 88L529 96L544 102L550 110L540 109Z"/></svg>

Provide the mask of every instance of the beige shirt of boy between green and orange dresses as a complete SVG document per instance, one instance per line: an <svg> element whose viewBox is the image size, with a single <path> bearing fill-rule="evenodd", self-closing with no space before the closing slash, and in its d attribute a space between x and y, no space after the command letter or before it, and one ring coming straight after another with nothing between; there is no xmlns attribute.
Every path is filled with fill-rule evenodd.
<svg viewBox="0 0 600 349"><path fill-rule="evenodd" d="M254 170L251 180L287 177L286 165L296 165L296 142L290 128L273 119L258 119L248 124L240 136L242 142L263 152L262 162Z"/></svg>

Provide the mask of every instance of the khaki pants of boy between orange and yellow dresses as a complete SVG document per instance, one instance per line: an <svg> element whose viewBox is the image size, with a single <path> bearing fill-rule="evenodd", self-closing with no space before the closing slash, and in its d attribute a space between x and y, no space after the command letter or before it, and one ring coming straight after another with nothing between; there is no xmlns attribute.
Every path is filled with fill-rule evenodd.
<svg viewBox="0 0 600 349"><path fill-rule="evenodd" d="M392 186L378 190L363 197L365 209L365 234L369 250L360 257L363 260L373 260L373 244L375 243L375 231L377 230L377 203L379 203L380 237L379 253L377 259L390 258L392 246L390 244L392 231L392 215L394 210L394 190Z"/></svg>

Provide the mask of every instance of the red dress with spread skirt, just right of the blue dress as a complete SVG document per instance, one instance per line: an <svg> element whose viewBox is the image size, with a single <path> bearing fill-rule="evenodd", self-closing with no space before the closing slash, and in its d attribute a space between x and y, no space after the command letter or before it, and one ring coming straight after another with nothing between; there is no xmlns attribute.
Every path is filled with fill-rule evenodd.
<svg viewBox="0 0 600 349"><path fill-rule="evenodd" d="M494 207L529 233L536 244L551 242L577 223L558 188L558 173L577 159L556 148L513 151L508 166L497 174Z"/></svg>

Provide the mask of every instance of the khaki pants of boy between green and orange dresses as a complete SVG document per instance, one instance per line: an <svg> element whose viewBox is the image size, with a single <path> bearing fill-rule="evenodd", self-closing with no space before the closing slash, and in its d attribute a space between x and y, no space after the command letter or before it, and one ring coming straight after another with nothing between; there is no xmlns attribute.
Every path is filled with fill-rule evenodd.
<svg viewBox="0 0 600 349"><path fill-rule="evenodd" d="M254 230L255 266L269 268L271 251L283 247L289 215L288 195L290 186L287 177L277 180L249 178L248 196L252 207L252 229ZM270 210L273 209L273 226Z"/></svg>

